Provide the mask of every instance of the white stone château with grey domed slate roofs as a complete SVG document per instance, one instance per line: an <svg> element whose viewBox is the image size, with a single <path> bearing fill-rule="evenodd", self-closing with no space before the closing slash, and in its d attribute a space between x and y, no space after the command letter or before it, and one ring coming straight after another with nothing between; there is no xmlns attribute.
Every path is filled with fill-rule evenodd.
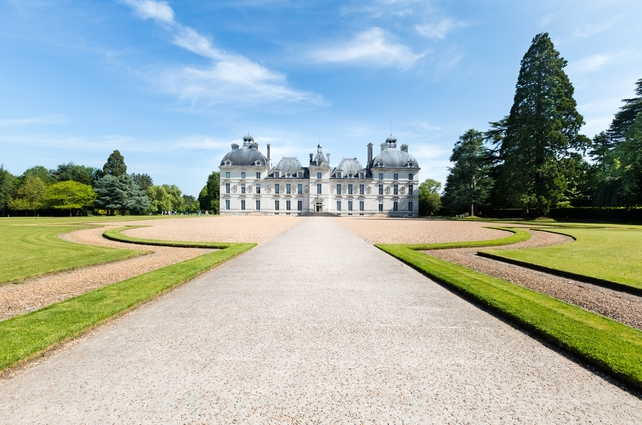
<svg viewBox="0 0 642 425"><path fill-rule="evenodd" d="M407 145L397 148L389 137L372 158L368 144L365 167L344 158L336 167L321 146L307 166L283 158L272 166L247 135L243 146L232 145L220 165L221 214L299 215L331 213L340 216L418 217L417 161Z"/></svg>

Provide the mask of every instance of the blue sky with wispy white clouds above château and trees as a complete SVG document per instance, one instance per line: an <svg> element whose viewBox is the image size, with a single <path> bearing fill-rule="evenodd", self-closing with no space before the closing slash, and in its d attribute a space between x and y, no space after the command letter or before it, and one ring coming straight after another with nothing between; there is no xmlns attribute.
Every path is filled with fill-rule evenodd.
<svg viewBox="0 0 642 425"><path fill-rule="evenodd" d="M320 142L336 165L392 132L444 182L469 128L507 115L520 60L548 32L590 137L642 78L642 2L0 2L0 163L73 161L198 195L250 132L275 160Z"/></svg>

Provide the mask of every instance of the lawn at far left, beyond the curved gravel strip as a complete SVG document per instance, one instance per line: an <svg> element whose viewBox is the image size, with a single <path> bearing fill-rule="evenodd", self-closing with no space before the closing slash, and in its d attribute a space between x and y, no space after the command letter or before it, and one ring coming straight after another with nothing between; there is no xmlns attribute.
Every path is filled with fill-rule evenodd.
<svg viewBox="0 0 642 425"><path fill-rule="evenodd" d="M63 241L58 235L90 224L48 224L0 220L0 283L20 282L46 273L122 260L145 251L105 248ZM20 223L20 224L16 224Z"/></svg>

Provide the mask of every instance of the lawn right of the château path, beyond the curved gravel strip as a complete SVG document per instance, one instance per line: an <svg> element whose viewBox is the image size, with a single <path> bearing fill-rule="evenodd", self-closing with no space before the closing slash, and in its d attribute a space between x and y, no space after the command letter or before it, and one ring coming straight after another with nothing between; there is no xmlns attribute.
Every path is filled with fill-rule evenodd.
<svg viewBox="0 0 642 425"><path fill-rule="evenodd" d="M642 228L568 228L551 232L574 242L519 250L486 251L493 258L561 271L569 276L642 290Z"/></svg>

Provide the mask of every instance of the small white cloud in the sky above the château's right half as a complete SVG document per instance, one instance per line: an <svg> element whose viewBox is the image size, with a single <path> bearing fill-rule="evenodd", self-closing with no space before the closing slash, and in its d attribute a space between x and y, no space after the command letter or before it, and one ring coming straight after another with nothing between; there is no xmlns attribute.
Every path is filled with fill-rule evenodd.
<svg viewBox="0 0 642 425"><path fill-rule="evenodd" d="M381 28L373 27L348 42L314 50L310 57L321 63L409 68L426 53L416 54L410 47L391 41Z"/></svg>

